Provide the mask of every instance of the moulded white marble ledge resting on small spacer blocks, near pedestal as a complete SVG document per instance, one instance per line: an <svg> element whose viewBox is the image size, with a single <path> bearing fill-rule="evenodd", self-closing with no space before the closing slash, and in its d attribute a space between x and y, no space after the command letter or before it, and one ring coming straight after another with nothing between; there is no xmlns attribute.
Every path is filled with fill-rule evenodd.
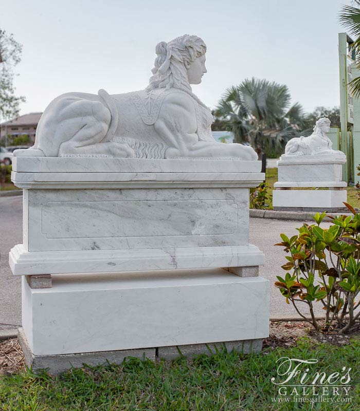
<svg viewBox="0 0 360 411"><path fill-rule="evenodd" d="M233 247L32 252L19 244L9 253L9 265L14 275L181 270L263 264L264 254L251 244Z"/></svg>

